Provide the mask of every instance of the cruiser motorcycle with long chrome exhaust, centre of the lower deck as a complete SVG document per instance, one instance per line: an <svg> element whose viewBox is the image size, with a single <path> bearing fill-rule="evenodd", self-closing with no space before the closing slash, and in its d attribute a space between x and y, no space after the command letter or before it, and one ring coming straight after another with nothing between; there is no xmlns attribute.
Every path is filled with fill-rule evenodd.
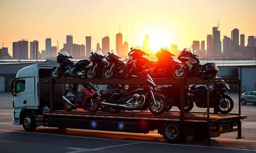
<svg viewBox="0 0 256 153"><path fill-rule="evenodd" d="M101 104L110 113L123 110L148 110L159 115L164 112L166 101L164 96L156 94L157 86L147 75L147 84L137 87L130 92L114 88L104 90L100 94Z"/></svg>

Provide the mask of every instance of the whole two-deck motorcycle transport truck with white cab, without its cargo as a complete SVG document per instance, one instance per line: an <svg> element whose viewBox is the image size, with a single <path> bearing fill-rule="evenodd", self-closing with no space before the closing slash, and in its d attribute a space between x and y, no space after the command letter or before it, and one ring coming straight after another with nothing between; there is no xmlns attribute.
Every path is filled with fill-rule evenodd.
<svg viewBox="0 0 256 153"><path fill-rule="evenodd" d="M237 131L237 138L242 137L240 80L222 78L227 84L239 87L238 113L220 114L214 109L210 112L210 81L199 78L153 79L157 85L180 85L180 111L169 111L161 115L153 115L148 111L122 111L108 113L105 111L88 112L82 109L63 110L62 96L67 85L88 84L145 84L145 79L76 79L50 77L55 65L33 64L20 69L12 81L13 124L22 125L26 131L35 131L36 127L55 127L60 129L89 129L147 134L157 130L167 142L179 143L192 141L195 138L218 137L220 134ZM205 84L207 86L207 112L184 113L184 87L186 84ZM49 108L49 109L45 109Z"/></svg>

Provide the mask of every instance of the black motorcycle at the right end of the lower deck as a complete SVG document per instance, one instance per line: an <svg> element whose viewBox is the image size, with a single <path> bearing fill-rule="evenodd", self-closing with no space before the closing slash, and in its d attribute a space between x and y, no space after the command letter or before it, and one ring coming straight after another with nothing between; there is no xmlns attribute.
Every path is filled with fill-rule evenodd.
<svg viewBox="0 0 256 153"><path fill-rule="evenodd" d="M223 80L212 84L210 87L210 107L217 109L222 114L231 112L234 107L234 101L224 93L229 90L228 84ZM193 85L188 93L197 107L207 108L207 88L205 85Z"/></svg>

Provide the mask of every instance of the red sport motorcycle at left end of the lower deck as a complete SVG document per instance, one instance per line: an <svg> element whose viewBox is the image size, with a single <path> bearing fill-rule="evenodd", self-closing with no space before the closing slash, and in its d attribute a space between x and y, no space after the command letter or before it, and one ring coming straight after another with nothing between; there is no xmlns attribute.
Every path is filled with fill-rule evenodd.
<svg viewBox="0 0 256 153"><path fill-rule="evenodd" d="M80 92L67 87L65 95L62 97L64 99L64 109L66 111L72 111L77 107L90 112L96 112L100 107L98 96L99 90L97 85L90 82Z"/></svg>

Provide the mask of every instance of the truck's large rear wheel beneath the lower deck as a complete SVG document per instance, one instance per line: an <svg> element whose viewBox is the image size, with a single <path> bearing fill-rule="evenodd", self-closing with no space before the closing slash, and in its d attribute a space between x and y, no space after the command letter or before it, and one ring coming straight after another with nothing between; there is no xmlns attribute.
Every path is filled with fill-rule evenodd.
<svg viewBox="0 0 256 153"><path fill-rule="evenodd" d="M162 128L164 140L170 143L179 143L181 141L181 127L176 122L166 122Z"/></svg>

